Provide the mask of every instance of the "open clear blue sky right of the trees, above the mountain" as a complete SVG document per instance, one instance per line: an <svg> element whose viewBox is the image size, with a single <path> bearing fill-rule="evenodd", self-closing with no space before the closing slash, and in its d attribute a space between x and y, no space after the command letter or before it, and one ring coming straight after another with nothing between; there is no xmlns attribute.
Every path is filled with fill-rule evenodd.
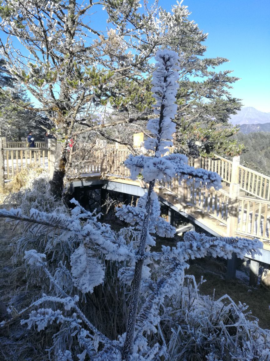
<svg viewBox="0 0 270 361"><path fill-rule="evenodd" d="M169 10L174 0L159 0ZM231 94L270 112L270 0L184 0L189 19L208 33L207 57L230 60L217 69L241 78Z"/></svg>

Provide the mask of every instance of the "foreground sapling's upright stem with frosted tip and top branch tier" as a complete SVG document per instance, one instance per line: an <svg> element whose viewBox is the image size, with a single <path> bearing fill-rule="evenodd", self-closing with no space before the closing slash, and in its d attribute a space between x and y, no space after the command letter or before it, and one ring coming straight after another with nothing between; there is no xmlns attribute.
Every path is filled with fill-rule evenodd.
<svg viewBox="0 0 270 361"><path fill-rule="evenodd" d="M126 339L122 349L122 360L125 361L130 360L134 346L134 330L140 297L141 273L145 258L145 245L149 232L149 215L155 197L154 184L156 179L168 181L178 174L180 179L192 179L196 183L206 184L208 187L211 186L216 189L221 187L221 178L219 175L202 169L195 170L193 167L189 167L185 164L186 158L183 155L173 154L162 157L162 155L167 152L167 147L172 145L172 134L175 132L175 124L171 119L174 119L177 111L175 96L178 88L178 73L176 70L179 69L179 67L176 65L178 63L178 56L173 51L158 51L155 59L157 61L157 69L153 73L152 91L156 99L154 114L157 117L150 119L147 125L147 129L154 135L154 138L148 138L144 143L146 149L154 151L154 156L130 155L125 161L125 165L130 169L133 179L141 172L145 181L149 183L145 213L141 226L138 256L134 271ZM129 217L128 214L125 214L129 213L129 210L124 207L122 210L119 210L118 216L122 219ZM156 216L158 217L159 214Z"/></svg>

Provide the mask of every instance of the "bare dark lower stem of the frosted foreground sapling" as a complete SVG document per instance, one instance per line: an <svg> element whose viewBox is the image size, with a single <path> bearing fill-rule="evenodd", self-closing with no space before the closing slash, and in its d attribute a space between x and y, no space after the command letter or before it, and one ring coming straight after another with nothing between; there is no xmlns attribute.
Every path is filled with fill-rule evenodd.
<svg viewBox="0 0 270 361"><path fill-rule="evenodd" d="M141 239L140 245L138 249L138 261L135 265L134 271L134 279L133 279L133 288L129 309L129 319L127 321L127 331L126 331L126 339L122 349L122 361L130 361L130 356L133 349L133 340L134 340L134 331L135 331L135 323L137 317L137 310L140 298L140 285L141 285L141 270L143 268L143 256L145 252L145 243L148 233L148 224L149 224L149 214L151 208L151 193L154 189L155 180L149 183L147 202L146 202L146 213L143 220L143 227L141 230Z"/></svg>

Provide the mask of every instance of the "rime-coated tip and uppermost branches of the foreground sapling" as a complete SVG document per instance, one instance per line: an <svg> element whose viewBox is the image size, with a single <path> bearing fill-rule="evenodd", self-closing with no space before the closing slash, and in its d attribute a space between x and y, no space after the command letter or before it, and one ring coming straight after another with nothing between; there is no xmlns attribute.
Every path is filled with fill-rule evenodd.
<svg viewBox="0 0 270 361"><path fill-rule="evenodd" d="M178 175L179 181L193 181L195 186L202 184L207 188L221 188L221 178L218 174L189 166L186 156L171 154L161 157L168 151L167 147L172 145L172 134L175 132L175 123L171 119L174 119L177 110L175 96L178 73L174 69L179 67L175 65L178 55L173 51L158 51L155 59L157 69L153 73L152 91L156 99L154 114L158 117L148 121L147 129L153 134L153 138L148 138L144 142L144 148L154 151L154 156L130 155L125 165L130 169L131 178L136 179L141 172L148 183L154 179L166 182Z"/></svg>

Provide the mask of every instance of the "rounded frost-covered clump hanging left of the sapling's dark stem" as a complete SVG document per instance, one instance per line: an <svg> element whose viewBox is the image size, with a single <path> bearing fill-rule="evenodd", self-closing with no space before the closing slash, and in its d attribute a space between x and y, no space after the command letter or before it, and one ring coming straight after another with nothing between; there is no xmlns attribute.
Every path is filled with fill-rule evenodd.
<svg viewBox="0 0 270 361"><path fill-rule="evenodd" d="M92 293L94 287L103 282L103 265L83 244L72 254L70 264L74 284L83 293Z"/></svg>

